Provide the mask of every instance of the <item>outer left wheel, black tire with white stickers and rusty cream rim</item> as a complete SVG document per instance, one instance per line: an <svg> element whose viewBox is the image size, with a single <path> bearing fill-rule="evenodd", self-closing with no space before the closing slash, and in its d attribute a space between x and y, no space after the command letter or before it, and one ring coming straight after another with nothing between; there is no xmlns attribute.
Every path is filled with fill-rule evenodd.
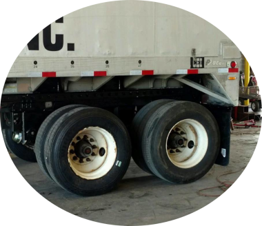
<svg viewBox="0 0 262 226"><path fill-rule="evenodd" d="M53 125L46 141L48 172L74 194L110 192L128 170L128 131L117 116L105 110L71 110Z"/></svg>

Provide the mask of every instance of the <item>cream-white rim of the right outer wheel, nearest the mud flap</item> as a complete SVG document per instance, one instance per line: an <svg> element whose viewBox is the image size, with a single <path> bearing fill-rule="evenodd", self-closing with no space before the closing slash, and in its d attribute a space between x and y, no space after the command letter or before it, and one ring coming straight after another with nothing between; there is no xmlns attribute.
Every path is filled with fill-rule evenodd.
<svg viewBox="0 0 262 226"><path fill-rule="evenodd" d="M168 134L166 152L177 167L189 169L199 164L208 151L208 133L193 119L180 121Z"/></svg>

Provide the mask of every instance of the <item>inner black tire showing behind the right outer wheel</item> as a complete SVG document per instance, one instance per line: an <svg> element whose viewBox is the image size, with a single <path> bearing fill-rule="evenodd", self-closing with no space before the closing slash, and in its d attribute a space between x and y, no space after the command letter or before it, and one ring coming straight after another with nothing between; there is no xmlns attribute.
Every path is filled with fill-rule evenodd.
<svg viewBox="0 0 262 226"><path fill-rule="evenodd" d="M132 158L134 162L141 168L141 170L152 174L151 170L146 165L145 160L143 158L142 152L142 136L143 131L145 129L145 125L150 119L150 116L159 109L159 107L165 105L166 103L170 103L172 100L158 100L145 105L134 117L132 122L132 130L131 130L131 138L132 138Z"/></svg>

